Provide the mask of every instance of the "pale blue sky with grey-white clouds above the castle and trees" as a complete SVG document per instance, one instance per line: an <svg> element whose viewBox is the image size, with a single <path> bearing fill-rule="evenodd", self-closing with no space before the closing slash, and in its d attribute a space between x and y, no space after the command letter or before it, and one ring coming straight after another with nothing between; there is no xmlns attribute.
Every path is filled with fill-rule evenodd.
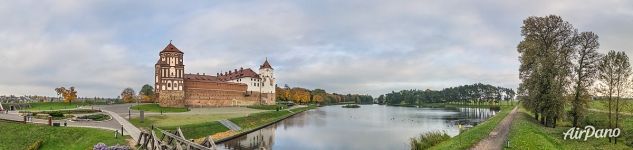
<svg viewBox="0 0 633 150"><path fill-rule="evenodd" d="M633 55L633 1L0 2L0 95L116 97L153 84L171 40L187 73L258 69L279 86L377 96L473 83L516 88L522 20L555 14Z"/></svg>

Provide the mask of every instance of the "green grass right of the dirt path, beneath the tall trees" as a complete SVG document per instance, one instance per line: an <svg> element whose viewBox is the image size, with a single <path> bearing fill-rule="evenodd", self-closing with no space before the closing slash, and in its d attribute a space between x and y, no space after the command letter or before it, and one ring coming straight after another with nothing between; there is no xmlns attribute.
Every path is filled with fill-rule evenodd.
<svg viewBox="0 0 633 150"><path fill-rule="evenodd" d="M618 139L618 144L611 144L607 138L584 140L564 140L563 133L569 130L569 121L561 120L560 126L549 128L540 125L530 113L521 109L519 116L512 122L510 128L510 147L506 149L633 149L624 145L624 138ZM592 123L596 128L606 128L606 113L589 112L586 122ZM633 117L625 118L622 122L620 136L631 134L633 129ZM583 125L584 126L584 125ZM627 132L628 131L628 132Z"/></svg>

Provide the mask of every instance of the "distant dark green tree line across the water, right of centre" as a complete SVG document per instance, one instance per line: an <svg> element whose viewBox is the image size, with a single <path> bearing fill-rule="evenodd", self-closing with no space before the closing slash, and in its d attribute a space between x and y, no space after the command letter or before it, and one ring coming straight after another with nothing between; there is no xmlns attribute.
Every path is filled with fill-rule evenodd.
<svg viewBox="0 0 633 150"><path fill-rule="evenodd" d="M401 90L378 96L378 103L389 105L420 105L424 103L496 104L509 101L514 90L489 84L472 84L436 90Z"/></svg>

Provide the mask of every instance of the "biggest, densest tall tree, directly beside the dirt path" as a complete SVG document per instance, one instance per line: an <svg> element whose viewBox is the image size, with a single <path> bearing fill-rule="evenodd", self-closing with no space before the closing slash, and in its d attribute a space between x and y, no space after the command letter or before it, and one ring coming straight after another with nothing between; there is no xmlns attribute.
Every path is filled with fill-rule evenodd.
<svg viewBox="0 0 633 150"><path fill-rule="evenodd" d="M528 17L523 21L519 52L519 95L541 124L556 127L570 84L576 29L561 17ZM539 117L540 115L540 117Z"/></svg>

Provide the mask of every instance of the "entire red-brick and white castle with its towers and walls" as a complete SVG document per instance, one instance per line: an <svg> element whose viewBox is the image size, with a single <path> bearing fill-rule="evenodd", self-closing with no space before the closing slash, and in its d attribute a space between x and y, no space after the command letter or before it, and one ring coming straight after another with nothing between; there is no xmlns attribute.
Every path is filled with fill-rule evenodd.
<svg viewBox="0 0 633 150"><path fill-rule="evenodd" d="M171 42L159 53L154 87L160 106L275 104L275 76L268 59L259 67L259 74L250 68L240 68L211 76L186 74L183 55Z"/></svg>

